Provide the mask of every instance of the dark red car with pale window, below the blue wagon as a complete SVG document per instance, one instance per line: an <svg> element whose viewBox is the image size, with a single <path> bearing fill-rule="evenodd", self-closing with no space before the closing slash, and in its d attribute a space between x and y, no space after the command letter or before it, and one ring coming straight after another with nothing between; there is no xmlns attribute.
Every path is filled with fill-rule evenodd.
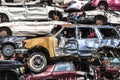
<svg viewBox="0 0 120 80"><path fill-rule="evenodd" d="M58 62L42 73L28 74L25 80L76 80L76 71L72 62Z"/></svg>

